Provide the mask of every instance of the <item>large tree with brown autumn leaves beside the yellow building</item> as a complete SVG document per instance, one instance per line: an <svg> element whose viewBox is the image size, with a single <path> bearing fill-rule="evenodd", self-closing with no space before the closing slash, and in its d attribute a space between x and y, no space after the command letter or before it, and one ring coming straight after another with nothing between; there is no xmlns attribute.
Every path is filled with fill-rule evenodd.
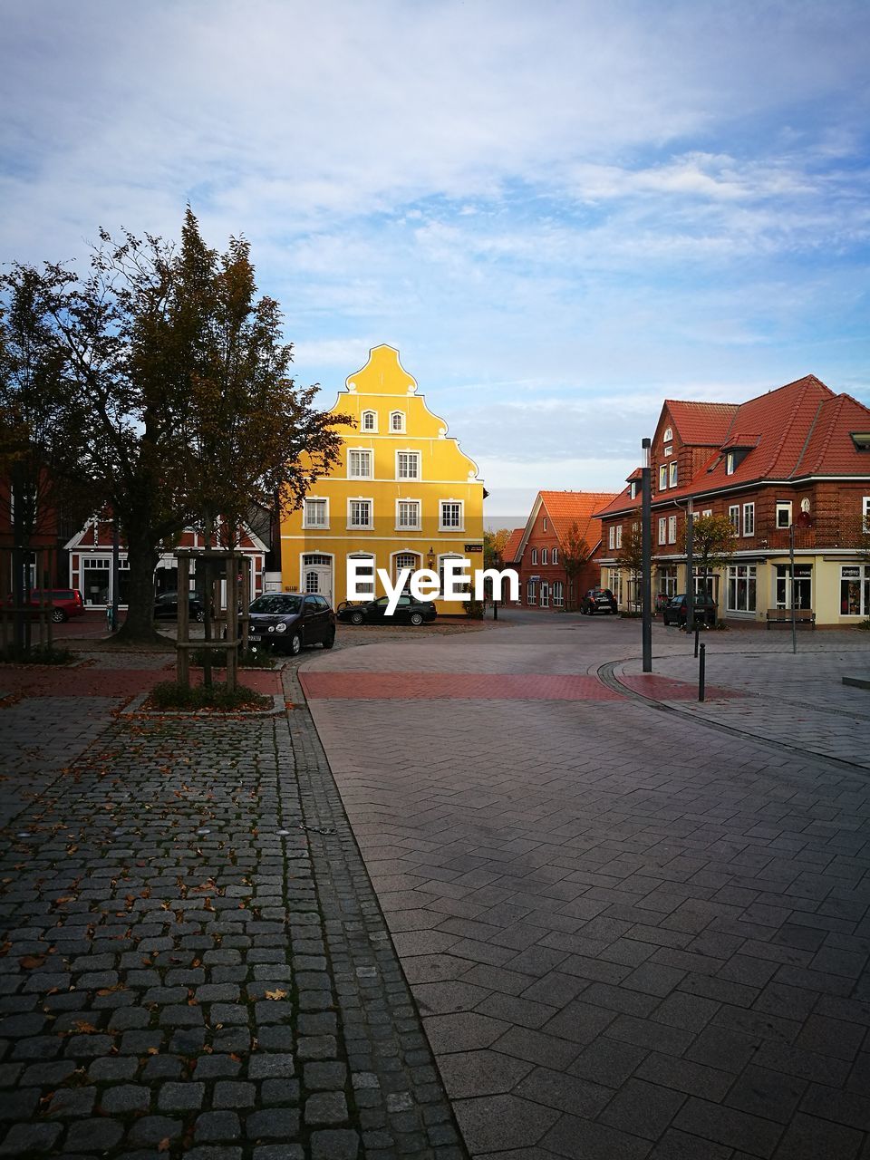
<svg viewBox="0 0 870 1160"><path fill-rule="evenodd" d="M297 507L339 462L335 419L314 408L316 387L290 377L281 311L258 297L248 242L210 249L189 208L177 247L101 231L87 275L16 263L0 287L41 335L45 374L63 382L56 418L75 432L75 455L58 462L56 479L87 479L92 510L110 509L126 542L130 607L118 637L153 639L161 545L197 522L233 546L252 502ZM8 309L0 324L6 350ZM0 360L3 445L17 392L7 365Z"/></svg>

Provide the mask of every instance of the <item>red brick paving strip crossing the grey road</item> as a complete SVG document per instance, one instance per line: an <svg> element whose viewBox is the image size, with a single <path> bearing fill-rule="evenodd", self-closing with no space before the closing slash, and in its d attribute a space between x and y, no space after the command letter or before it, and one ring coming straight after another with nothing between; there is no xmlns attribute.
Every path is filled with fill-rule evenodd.
<svg viewBox="0 0 870 1160"><path fill-rule="evenodd" d="M299 673L312 699L622 701L595 676L571 673Z"/></svg>

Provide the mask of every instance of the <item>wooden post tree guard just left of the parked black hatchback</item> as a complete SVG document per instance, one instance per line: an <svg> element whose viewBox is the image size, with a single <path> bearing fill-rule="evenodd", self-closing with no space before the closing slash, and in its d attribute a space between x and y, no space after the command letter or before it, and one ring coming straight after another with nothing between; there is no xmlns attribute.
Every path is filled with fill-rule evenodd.
<svg viewBox="0 0 870 1160"><path fill-rule="evenodd" d="M194 551L190 549L179 549L173 553L179 567L179 633L175 643L175 672L179 684L190 687L190 650L203 648L209 652L223 652L226 657L226 687L235 689L239 683L239 564L244 557L239 552L225 551L220 549L203 549ZM212 608L218 610L213 618L215 624L225 625L226 635L223 640L191 640L190 639L190 561L201 560L205 565L206 577L211 571L209 565L224 563L226 565L226 615L220 610L220 581L215 579L205 592L205 600L212 601ZM249 563L249 561L247 561ZM241 588L245 590L245 577L247 570L242 568ZM248 588L249 590L249 588ZM245 608L245 619L242 636L247 628L247 603Z"/></svg>

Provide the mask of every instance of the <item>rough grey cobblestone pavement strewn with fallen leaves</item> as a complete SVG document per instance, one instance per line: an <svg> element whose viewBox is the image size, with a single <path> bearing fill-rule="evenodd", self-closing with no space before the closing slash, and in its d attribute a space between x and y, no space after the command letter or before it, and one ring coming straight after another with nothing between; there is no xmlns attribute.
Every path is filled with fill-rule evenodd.
<svg viewBox="0 0 870 1160"><path fill-rule="evenodd" d="M0 854L0 1155L463 1160L307 710L118 687L0 713L42 744Z"/></svg>

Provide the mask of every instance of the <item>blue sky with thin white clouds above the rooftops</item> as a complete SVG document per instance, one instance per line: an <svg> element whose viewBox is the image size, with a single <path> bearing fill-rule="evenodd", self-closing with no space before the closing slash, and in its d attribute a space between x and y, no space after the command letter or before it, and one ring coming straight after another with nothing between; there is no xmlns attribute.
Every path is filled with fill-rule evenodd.
<svg viewBox="0 0 870 1160"><path fill-rule="evenodd" d="M328 407L397 347L491 524L665 398L870 405L867 0L0 0L0 262L245 235Z"/></svg>

